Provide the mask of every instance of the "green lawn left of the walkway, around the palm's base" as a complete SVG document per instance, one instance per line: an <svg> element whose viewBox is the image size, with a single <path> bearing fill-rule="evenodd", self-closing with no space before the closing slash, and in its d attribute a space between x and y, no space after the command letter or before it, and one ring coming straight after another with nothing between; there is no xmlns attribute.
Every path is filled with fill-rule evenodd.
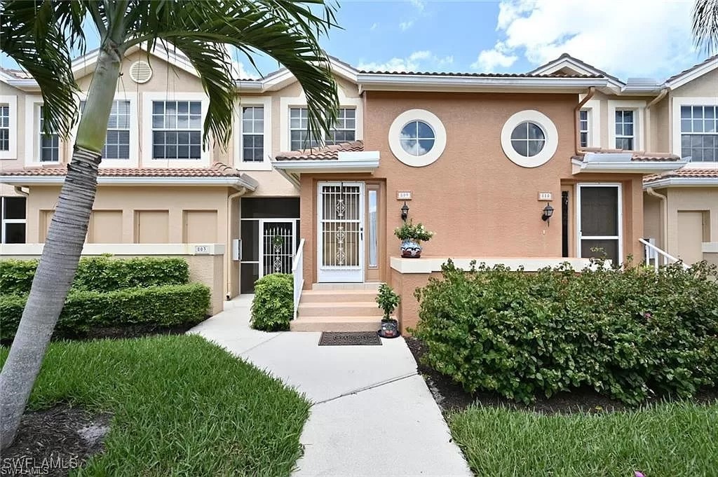
<svg viewBox="0 0 718 477"><path fill-rule="evenodd" d="M7 349L0 349L4 363ZM198 336L50 344L29 409L113 413L79 476L289 476L309 403Z"/></svg>

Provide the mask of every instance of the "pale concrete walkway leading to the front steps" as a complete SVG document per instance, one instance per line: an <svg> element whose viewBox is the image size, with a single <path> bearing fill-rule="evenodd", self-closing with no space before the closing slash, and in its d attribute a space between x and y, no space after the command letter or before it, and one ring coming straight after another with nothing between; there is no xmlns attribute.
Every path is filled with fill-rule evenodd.
<svg viewBox="0 0 718 477"><path fill-rule="evenodd" d="M251 297L190 333L215 341L314 403L297 477L471 476L404 339L383 346L317 346L319 333L248 326Z"/></svg>

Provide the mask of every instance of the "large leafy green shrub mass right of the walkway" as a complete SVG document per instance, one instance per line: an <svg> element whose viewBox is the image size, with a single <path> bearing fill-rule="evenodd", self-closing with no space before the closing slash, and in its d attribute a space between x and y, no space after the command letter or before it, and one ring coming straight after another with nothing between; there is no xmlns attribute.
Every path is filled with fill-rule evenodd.
<svg viewBox="0 0 718 477"><path fill-rule="evenodd" d="M589 386L636 404L718 384L715 266L538 273L452 263L416 291L426 364L530 402Z"/></svg>

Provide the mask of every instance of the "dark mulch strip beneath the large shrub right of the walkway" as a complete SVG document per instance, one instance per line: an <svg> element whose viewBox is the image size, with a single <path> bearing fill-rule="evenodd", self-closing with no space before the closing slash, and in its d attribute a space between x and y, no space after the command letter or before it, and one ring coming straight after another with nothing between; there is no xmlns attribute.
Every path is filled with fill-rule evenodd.
<svg viewBox="0 0 718 477"><path fill-rule="evenodd" d="M599 395L593 389L577 389L573 392L559 392L548 399L538 399L531 405L523 405L499 396L493 392L466 392L460 384L456 384L449 377L440 374L422 364L421 356L426 352L426 346L419 339L406 336L406 345L416 359L416 368L424 376L426 385L434 395L442 410L462 410L477 402L484 406L509 407L516 410L531 410L542 414L571 414L574 412L611 412L630 409L623 402L612 400ZM658 401L656 399L656 401ZM694 402L714 403L718 401L718 389L701 391L694 397Z"/></svg>

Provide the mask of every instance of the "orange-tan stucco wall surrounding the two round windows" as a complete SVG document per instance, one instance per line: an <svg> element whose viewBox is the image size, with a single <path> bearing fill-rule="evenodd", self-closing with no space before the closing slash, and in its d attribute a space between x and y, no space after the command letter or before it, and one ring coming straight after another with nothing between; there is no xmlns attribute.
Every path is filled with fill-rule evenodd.
<svg viewBox="0 0 718 477"><path fill-rule="evenodd" d="M582 181L619 182L623 186L624 254L640 253L643 233L643 194L639 174L572 175L576 95L511 95L490 93L368 92L365 149L379 151L373 174L302 175L302 237L307 240L304 278L316 278L316 184L320 180L380 180L386 183L388 255L397 255L393 236L401 225L403 201L396 192L411 191L409 217L437 232L424 254L475 257L560 257L561 186ZM447 131L447 146L439 159L425 167L398 161L388 144L388 130L400 113L429 110ZM523 168L503 153L500 132L505 121L521 110L535 109L556 125L559 144L553 159L536 168ZM546 205L538 192L551 192L555 209L551 224L541 220ZM573 217L572 217L573 219ZM575 250L571 250L572 255ZM386 268L385 268L386 270ZM388 274L383 274L388 280Z"/></svg>

